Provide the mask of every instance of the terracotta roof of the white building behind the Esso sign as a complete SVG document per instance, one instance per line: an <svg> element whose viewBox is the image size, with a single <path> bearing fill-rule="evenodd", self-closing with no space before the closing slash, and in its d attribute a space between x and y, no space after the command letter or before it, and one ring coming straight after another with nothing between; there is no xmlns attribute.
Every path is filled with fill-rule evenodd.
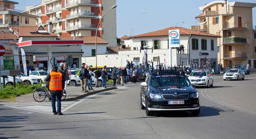
<svg viewBox="0 0 256 139"><path fill-rule="evenodd" d="M192 32L191 29L187 29L187 28L170 27L170 28L165 28L165 29L158 30L158 31L153 31L153 32L148 32L148 33L144 33L144 34L131 36L130 38L168 36L169 35L169 30L175 30L175 29L180 29L180 35L189 35ZM221 36L218 36L218 35L215 35L215 34L208 34L208 33L203 33L203 32L198 32L198 31L193 31L192 35L221 37Z"/></svg>

